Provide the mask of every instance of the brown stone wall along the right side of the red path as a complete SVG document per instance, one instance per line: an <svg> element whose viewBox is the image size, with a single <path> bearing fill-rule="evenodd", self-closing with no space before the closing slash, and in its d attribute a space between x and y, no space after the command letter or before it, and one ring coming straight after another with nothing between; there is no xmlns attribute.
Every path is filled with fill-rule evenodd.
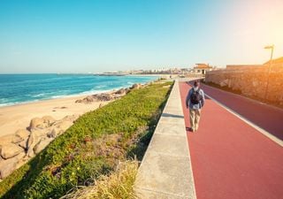
<svg viewBox="0 0 283 199"><path fill-rule="evenodd" d="M206 73L205 81L221 87L241 91L243 96L264 100L268 67L249 67L237 70L218 70ZM283 105L283 67L272 66L267 90L267 100Z"/></svg>

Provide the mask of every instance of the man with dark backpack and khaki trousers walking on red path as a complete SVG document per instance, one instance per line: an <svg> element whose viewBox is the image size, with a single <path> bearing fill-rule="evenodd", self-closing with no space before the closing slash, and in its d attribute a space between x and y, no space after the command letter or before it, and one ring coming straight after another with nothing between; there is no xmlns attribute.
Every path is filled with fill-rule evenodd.
<svg viewBox="0 0 283 199"><path fill-rule="evenodd" d="M198 129L201 119L201 110L204 105L204 92L200 88L200 82L195 81L194 87L187 93L186 106L189 108L189 120L191 123L190 131L195 132Z"/></svg>

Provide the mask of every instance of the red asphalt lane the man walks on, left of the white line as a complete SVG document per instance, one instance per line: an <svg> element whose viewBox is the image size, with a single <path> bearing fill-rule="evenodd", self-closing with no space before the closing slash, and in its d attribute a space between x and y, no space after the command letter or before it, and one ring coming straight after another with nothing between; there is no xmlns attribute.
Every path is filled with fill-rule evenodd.
<svg viewBox="0 0 283 199"><path fill-rule="evenodd" d="M189 88L180 82L187 127ZM210 96L216 92L209 87L203 90ZM225 101L231 100L230 95L220 96ZM212 97L218 100L217 95ZM233 103L245 105L241 98ZM262 110L254 111L259 114ZM283 148L214 101L206 99L200 127L195 133L187 132L187 141L197 199L283 198Z"/></svg>

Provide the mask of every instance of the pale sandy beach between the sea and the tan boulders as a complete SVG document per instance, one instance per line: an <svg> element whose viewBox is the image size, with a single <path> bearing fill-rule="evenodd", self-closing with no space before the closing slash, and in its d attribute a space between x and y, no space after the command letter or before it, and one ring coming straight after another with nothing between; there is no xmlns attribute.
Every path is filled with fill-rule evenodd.
<svg viewBox="0 0 283 199"><path fill-rule="evenodd" d="M48 115L54 119L62 119L67 115L81 115L85 112L96 110L100 103L102 103L75 103L76 100L84 97L85 96L69 96L34 103L0 107L0 136L14 134L18 129L27 128L30 120L35 117ZM103 102L103 104L105 103L108 102Z"/></svg>

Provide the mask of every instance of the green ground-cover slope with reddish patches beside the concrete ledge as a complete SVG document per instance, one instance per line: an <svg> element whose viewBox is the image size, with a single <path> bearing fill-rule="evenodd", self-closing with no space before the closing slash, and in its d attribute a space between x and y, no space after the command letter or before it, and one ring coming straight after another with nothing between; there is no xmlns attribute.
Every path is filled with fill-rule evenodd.
<svg viewBox="0 0 283 199"><path fill-rule="evenodd" d="M172 83L152 84L90 111L65 134L0 183L2 198L59 198L142 157Z"/></svg>

